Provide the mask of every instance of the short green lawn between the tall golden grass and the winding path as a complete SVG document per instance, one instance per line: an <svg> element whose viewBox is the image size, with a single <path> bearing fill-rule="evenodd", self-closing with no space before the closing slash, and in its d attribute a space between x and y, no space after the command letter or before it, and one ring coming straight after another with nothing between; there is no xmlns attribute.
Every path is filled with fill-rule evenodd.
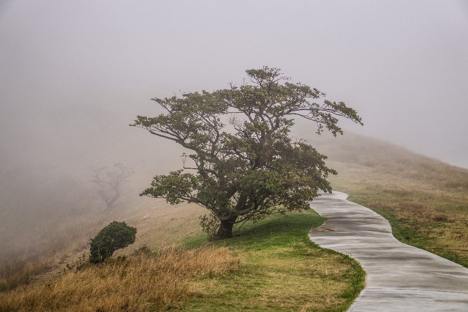
<svg viewBox="0 0 468 312"><path fill-rule="evenodd" d="M314 211L276 216L210 243L240 255L241 264L195 280L182 311L346 311L364 288L365 272L348 255L310 241L309 231L324 221ZM201 246L205 237L184 244Z"/></svg>

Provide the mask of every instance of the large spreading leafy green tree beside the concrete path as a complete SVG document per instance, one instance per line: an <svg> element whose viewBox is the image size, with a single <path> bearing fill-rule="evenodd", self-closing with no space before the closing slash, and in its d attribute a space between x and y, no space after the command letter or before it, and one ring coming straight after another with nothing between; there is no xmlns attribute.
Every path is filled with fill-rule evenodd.
<svg viewBox="0 0 468 312"><path fill-rule="evenodd" d="M265 66L246 73L249 81L239 87L231 83L230 88L211 93L153 98L167 113L137 116L131 124L193 152L183 155L183 169L156 176L140 196L207 208L212 219L204 216L201 223L205 227L216 223L217 239L232 237L234 224L308 210L319 190L331 193L326 178L336 171L306 141L292 141L292 117L309 119L316 123L317 134L326 128L335 137L343 134L337 117L362 125L344 102L311 102L325 94L289 82L279 69ZM226 130L223 120L232 131ZM194 165L186 167L190 159Z"/></svg>

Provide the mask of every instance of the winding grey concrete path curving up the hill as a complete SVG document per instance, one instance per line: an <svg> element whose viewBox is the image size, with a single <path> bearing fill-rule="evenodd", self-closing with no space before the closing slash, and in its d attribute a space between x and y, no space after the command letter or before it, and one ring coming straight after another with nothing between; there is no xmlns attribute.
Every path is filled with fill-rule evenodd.
<svg viewBox="0 0 468 312"><path fill-rule="evenodd" d="M350 312L468 311L467 268L400 243L389 221L347 197L333 192L312 201L327 221L309 236L366 270L366 288Z"/></svg>

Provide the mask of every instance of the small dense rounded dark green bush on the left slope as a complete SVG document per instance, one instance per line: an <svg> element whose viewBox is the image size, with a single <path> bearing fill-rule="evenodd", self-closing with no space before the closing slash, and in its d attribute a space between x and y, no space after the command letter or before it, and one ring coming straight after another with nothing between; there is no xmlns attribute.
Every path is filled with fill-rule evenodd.
<svg viewBox="0 0 468 312"><path fill-rule="evenodd" d="M89 262L100 263L109 258L117 249L135 242L137 229L125 222L113 221L91 239Z"/></svg>

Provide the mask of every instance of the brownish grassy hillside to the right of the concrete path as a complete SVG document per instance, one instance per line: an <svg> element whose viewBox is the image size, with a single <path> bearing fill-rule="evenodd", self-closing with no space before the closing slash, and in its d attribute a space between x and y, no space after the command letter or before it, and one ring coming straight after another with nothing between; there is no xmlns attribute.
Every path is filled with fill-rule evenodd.
<svg viewBox="0 0 468 312"><path fill-rule="evenodd" d="M369 137L312 137L334 190L390 221L400 241L468 267L468 170Z"/></svg>

